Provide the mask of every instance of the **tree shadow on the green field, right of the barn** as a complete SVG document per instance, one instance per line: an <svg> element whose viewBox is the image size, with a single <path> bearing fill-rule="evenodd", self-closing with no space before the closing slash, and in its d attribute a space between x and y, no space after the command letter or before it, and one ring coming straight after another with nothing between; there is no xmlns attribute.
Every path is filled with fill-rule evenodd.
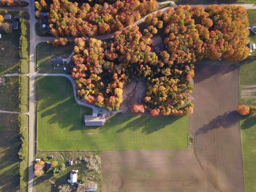
<svg viewBox="0 0 256 192"><path fill-rule="evenodd" d="M163 129L167 125L170 125L180 119L180 116L140 116L133 121L127 123L124 127L116 131L122 133L124 131L138 131L141 129L142 133L150 134L158 130Z"/></svg>

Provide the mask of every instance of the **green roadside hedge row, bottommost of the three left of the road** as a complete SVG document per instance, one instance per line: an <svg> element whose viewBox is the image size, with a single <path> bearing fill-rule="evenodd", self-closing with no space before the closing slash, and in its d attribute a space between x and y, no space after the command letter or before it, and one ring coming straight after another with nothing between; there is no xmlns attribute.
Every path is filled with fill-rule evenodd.
<svg viewBox="0 0 256 192"><path fill-rule="evenodd" d="M19 150L19 157L21 159L20 172L20 188L24 188L28 183L28 116L19 115L19 133L21 139L21 148Z"/></svg>

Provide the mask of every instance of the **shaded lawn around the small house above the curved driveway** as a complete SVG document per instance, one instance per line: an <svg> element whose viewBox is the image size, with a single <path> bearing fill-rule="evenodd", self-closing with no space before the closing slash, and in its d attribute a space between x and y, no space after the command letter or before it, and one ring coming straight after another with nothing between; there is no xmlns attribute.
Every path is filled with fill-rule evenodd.
<svg viewBox="0 0 256 192"><path fill-rule="evenodd" d="M36 46L36 62L38 73L68 73L64 70L54 70L52 60L57 57L67 58L74 49L73 43L66 46L53 47L47 43L39 43ZM65 66L68 69L68 66Z"/></svg>

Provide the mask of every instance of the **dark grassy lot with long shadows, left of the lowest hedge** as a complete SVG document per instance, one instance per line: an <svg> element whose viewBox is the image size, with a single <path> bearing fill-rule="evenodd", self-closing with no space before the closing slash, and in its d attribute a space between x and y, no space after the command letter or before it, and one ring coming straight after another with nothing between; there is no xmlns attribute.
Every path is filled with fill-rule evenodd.
<svg viewBox="0 0 256 192"><path fill-rule="evenodd" d="M18 191L20 148L18 115L0 114L0 191Z"/></svg>

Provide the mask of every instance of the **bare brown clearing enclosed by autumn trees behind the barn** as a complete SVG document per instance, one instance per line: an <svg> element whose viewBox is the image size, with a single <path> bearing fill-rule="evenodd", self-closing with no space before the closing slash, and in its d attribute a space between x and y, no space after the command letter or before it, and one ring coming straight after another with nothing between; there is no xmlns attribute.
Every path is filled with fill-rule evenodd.
<svg viewBox="0 0 256 192"><path fill-rule="evenodd" d="M120 111L123 113L129 113L133 103L142 101L147 86L146 82L133 80L131 83L125 85L123 90L123 102L120 106Z"/></svg>

